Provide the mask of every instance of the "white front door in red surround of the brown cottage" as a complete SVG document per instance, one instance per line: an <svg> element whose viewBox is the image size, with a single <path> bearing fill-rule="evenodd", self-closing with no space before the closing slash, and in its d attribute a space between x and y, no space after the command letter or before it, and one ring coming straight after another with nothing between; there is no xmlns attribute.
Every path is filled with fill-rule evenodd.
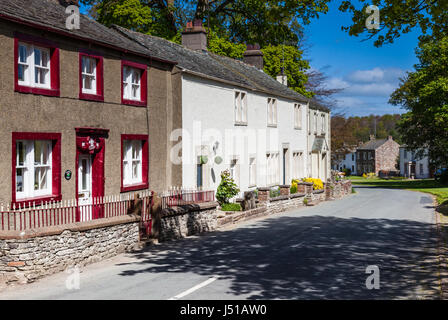
<svg viewBox="0 0 448 320"><path fill-rule="evenodd" d="M78 158L78 205L80 221L92 220L92 155Z"/></svg>

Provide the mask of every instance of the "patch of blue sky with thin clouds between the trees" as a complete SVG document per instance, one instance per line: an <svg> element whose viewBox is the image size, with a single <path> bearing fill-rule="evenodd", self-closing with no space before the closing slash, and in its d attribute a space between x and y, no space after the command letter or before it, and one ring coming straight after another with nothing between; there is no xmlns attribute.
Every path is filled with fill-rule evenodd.
<svg viewBox="0 0 448 320"><path fill-rule="evenodd" d="M329 76L329 87L345 88L336 98L338 111L347 116L403 113L387 103L399 78L417 63L415 48L420 31L401 36L393 44L376 48L373 40L349 36L341 30L351 22L350 13L340 12L334 1L329 13L306 27L306 52L312 68ZM380 17L381 18L381 17Z"/></svg>

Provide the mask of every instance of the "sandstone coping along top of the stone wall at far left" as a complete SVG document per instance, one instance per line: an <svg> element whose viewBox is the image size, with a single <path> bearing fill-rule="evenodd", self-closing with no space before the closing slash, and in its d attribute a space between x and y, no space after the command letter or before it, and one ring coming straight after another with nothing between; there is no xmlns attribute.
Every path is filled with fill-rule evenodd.
<svg viewBox="0 0 448 320"><path fill-rule="evenodd" d="M128 224L139 221L140 216L124 215L118 217L102 218L83 222L74 222L59 226L49 226L36 229L0 231L0 240L31 239L37 237L54 236L54 235L60 235L64 231L72 231L72 232L87 231L92 229L111 227L119 224Z"/></svg>

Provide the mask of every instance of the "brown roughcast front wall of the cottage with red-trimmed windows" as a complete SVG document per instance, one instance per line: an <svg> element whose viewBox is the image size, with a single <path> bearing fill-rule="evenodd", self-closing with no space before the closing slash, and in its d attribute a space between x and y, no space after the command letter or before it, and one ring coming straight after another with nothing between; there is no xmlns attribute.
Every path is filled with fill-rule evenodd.
<svg viewBox="0 0 448 320"><path fill-rule="evenodd" d="M60 49L60 97L14 91L14 31L51 39ZM149 64L149 60L89 45L47 31L0 21L0 202L12 197L12 132L61 133L62 198L75 198L75 128L109 129L105 144L105 194L120 193L121 134L149 134L149 187L163 190L167 183L166 132L168 110L172 109L171 66L152 62L148 69L148 111L145 107L121 104L121 60ZM89 49L104 56L104 102L79 100L79 50Z"/></svg>

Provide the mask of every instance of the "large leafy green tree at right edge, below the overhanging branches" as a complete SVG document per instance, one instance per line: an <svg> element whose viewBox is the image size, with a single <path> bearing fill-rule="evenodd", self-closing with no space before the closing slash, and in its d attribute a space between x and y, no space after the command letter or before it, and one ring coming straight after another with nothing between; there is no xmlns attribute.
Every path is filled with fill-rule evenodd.
<svg viewBox="0 0 448 320"><path fill-rule="evenodd" d="M401 79L390 103L408 110L399 123L410 149L428 147L434 164L448 164L448 37L422 41L415 71ZM420 155L422 155L420 153Z"/></svg>

